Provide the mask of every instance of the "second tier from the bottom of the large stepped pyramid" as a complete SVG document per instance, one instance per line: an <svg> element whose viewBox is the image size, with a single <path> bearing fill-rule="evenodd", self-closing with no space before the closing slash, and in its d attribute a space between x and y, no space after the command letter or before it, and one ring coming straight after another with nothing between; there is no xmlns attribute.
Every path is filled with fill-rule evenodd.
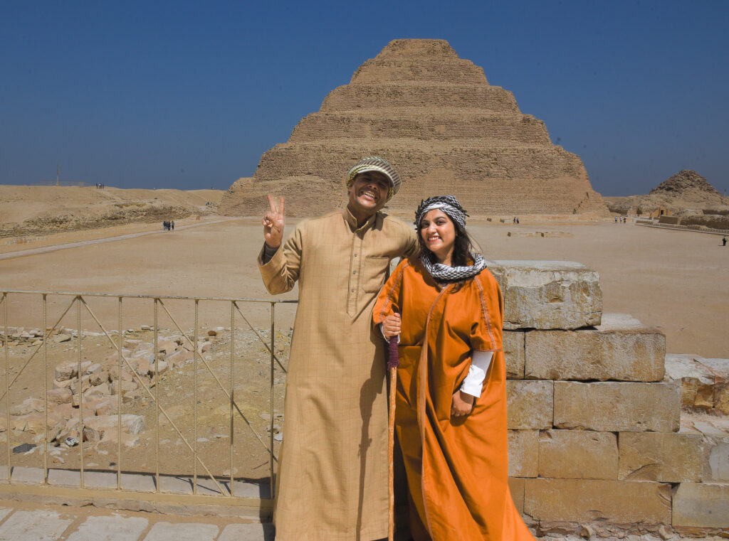
<svg viewBox="0 0 729 541"><path fill-rule="evenodd" d="M458 111L457 109L455 109ZM289 142L321 140L390 139L416 141L475 140L486 148L523 144L552 146L544 122L523 114L362 114L356 111L313 113L294 128Z"/></svg>

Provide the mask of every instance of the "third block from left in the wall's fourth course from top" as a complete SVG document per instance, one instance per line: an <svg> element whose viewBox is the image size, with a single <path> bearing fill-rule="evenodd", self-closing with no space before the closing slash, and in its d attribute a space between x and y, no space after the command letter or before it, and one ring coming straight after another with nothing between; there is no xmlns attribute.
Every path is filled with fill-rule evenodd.
<svg viewBox="0 0 729 541"><path fill-rule="evenodd" d="M618 478L630 481L701 481L704 439L679 433L620 433Z"/></svg>

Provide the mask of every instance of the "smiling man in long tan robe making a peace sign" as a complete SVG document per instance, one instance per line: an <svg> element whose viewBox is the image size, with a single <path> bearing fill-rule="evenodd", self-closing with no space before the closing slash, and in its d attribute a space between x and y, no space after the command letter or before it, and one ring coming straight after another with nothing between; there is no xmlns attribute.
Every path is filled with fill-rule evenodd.
<svg viewBox="0 0 729 541"><path fill-rule="evenodd" d="M416 253L413 229L379 212L399 189L385 160L346 176L344 210L306 220L281 248L284 198L268 197L258 264L270 293L299 281L276 478L277 541L387 537L384 341L372 309L391 259Z"/></svg>

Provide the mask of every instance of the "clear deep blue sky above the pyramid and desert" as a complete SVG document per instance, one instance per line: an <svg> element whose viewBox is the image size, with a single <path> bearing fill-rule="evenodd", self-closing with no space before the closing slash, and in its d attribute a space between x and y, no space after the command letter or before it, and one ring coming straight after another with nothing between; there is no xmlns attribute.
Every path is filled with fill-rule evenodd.
<svg viewBox="0 0 729 541"><path fill-rule="evenodd" d="M729 191L729 1L0 0L0 183L227 189L397 38L446 39L604 195Z"/></svg>

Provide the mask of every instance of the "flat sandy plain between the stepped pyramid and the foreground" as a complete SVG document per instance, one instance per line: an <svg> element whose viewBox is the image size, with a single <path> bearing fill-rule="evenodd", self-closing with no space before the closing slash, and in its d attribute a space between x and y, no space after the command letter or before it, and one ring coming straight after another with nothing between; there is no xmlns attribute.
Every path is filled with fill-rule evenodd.
<svg viewBox="0 0 729 541"><path fill-rule="evenodd" d="M289 220L290 231L295 220ZM143 229L151 226L133 226ZM124 229L124 232L128 232ZM668 352L729 358L729 248L714 234L653 229L635 224L471 224L487 258L579 261L601 276L604 311L634 315L666 334ZM154 229L149 229L153 231ZM287 231L287 233L288 233ZM507 236L511 232L512 236ZM550 232L564 236L529 236ZM94 237L120 234L119 228L96 231ZM263 287L254 263L262 234L258 218L175 232L159 231L116 240L0 261L0 288L24 291L69 291L125 295L195 296L246 299L293 299L295 291L276 298ZM87 240L83 232L58 236L58 243ZM41 241L51 245L54 236ZM39 244L41 245L41 244ZM8 253L16 247L4 246ZM28 242L23 249L36 248ZM12 295L9 325L39 326L39 296ZM103 302L102 302L103 300ZM49 320L69 299L49 297ZM171 301L170 301L171 302ZM65 304L64 304L65 303ZM172 303L174 305L175 303ZM191 325L192 304L179 305L181 325ZM99 317L117 328L116 299L96 304ZM270 325L268 303L245 304L254 325ZM277 305L277 327L292 324L291 305ZM60 314L58 314L60 315ZM68 317L68 316L67 316ZM152 301L125 300L124 328L152 321ZM229 325L230 304L201 301L199 322ZM75 320L75 317L74 317ZM75 328L71 323L66 326ZM49 323L50 324L50 323ZM83 316L82 327L95 323Z"/></svg>

